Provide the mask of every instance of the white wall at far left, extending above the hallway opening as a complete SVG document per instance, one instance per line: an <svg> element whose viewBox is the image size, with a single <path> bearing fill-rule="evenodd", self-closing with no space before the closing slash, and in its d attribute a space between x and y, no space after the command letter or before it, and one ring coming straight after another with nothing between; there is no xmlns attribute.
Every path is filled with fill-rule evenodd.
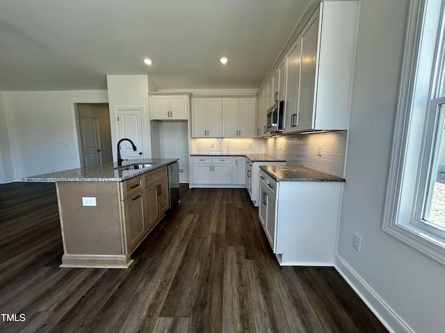
<svg viewBox="0 0 445 333"><path fill-rule="evenodd" d="M74 103L108 102L105 90L3 92L3 97L14 167L13 175L8 174L7 178L15 181L24 176L78 168ZM3 146L2 152L4 161L7 153Z"/></svg>

